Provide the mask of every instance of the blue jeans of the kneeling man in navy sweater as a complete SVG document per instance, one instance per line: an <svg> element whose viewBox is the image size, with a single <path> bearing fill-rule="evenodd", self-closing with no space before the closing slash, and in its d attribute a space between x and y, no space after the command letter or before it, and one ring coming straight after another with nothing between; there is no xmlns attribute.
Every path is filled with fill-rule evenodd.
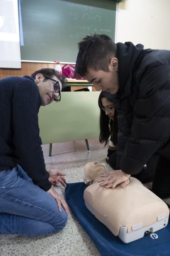
<svg viewBox="0 0 170 256"><path fill-rule="evenodd" d="M67 223L55 199L33 184L17 165L0 172L0 234L41 236L56 233Z"/></svg>

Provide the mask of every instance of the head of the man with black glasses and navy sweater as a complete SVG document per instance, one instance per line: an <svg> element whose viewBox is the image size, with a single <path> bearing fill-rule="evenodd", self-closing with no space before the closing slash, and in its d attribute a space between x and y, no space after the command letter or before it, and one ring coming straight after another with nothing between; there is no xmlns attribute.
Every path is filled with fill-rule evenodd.
<svg viewBox="0 0 170 256"><path fill-rule="evenodd" d="M65 77L52 68L42 68L35 71L31 77L35 80L41 97L41 106L46 106L52 101L60 101L62 86Z"/></svg>

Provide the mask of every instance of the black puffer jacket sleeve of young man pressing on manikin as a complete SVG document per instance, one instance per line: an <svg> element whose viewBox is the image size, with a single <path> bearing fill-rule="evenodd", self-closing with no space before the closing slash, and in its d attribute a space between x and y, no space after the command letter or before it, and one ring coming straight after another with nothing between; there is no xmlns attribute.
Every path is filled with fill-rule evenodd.
<svg viewBox="0 0 170 256"><path fill-rule="evenodd" d="M150 157L170 138L170 65L149 68L138 87L131 136L120 169L140 172Z"/></svg>

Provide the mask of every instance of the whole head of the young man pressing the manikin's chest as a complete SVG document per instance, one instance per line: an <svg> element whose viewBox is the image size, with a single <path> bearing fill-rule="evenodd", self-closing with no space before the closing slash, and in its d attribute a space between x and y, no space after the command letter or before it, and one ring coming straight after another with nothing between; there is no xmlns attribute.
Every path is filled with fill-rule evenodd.
<svg viewBox="0 0 170 256"><path fill-rule="evenodd" d="M97 91L119 90L117 45L107 35L87 35L79 42L75 74L94 84Z"/></svg>

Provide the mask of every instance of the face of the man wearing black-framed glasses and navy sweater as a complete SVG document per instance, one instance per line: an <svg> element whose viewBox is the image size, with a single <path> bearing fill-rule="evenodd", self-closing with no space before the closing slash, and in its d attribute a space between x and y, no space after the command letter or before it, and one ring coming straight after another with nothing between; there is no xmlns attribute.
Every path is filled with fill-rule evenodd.
<svg viewBox="0 0 170 256"><path fill-rule="evenodd" d="M60 91L62 90L62 83L60 80L53 76L52 79L59 82L60 85ZM57 99L59 97L59 93L56 93L54 91L54 84L55 82L47 79L45 82L43 82L44 76L42 74L37 74L35 77L35 83L38 86L40 97L41 97L41 106L46 106L50 104L54 99Z"/></svg>

